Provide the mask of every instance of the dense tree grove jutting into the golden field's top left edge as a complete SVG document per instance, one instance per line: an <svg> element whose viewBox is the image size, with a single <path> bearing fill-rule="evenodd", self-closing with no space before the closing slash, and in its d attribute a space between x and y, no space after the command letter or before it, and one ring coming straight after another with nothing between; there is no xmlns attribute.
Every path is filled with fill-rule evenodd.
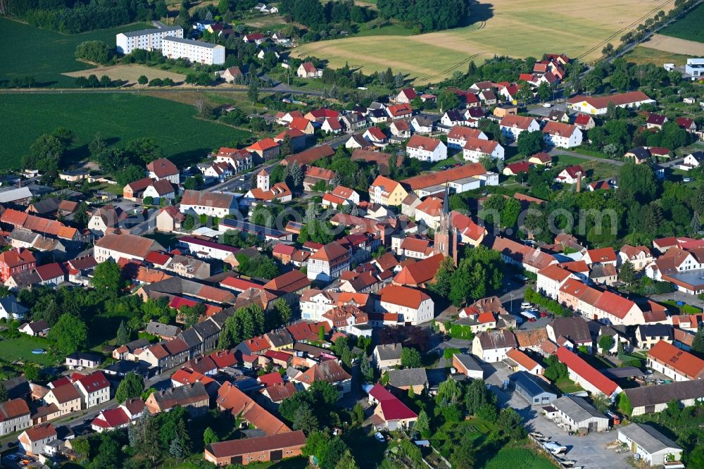
<svg viewBox="0 0 704 469"><path fill-rule="evenodd" d="M458 27L470 15L466 0L379 0L383 18L395 18L413 25L417 32Z"/></svg>

